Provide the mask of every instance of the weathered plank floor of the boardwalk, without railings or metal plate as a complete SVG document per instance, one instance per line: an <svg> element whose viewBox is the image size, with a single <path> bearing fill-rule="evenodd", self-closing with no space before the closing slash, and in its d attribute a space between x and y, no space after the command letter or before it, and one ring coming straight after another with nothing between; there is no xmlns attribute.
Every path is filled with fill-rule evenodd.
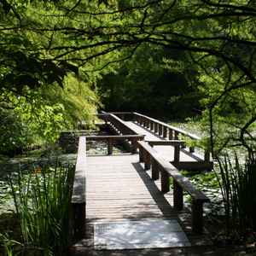
<svg viewBox="0 0 256 256"><path fill-rule="evenodd" d="M137 123L125 122L125 124L138 134L145 135L145 141L166 140ZM166 160L173 160L174 147L154 146L154 149ZM203 157L200 154L191 154L189 149L182 148L180 160L203 161ZM75 241L73 255L105 255L94 249L94 224L102 222L177 220L192 247L212 246L206 231L202 235L193 234L191 212L187 208L174 209L172 189L167 193L161 192L160 179L153 180L151 170L145 171L144 163L139 161L139 154L87 154L85 179L86 238ZM150 254L152 253L148 255ZM114 255L125 254L114 253ZM177 255L187 254L177 253ZM204 253L193 255L204 255Z"/></svg>

